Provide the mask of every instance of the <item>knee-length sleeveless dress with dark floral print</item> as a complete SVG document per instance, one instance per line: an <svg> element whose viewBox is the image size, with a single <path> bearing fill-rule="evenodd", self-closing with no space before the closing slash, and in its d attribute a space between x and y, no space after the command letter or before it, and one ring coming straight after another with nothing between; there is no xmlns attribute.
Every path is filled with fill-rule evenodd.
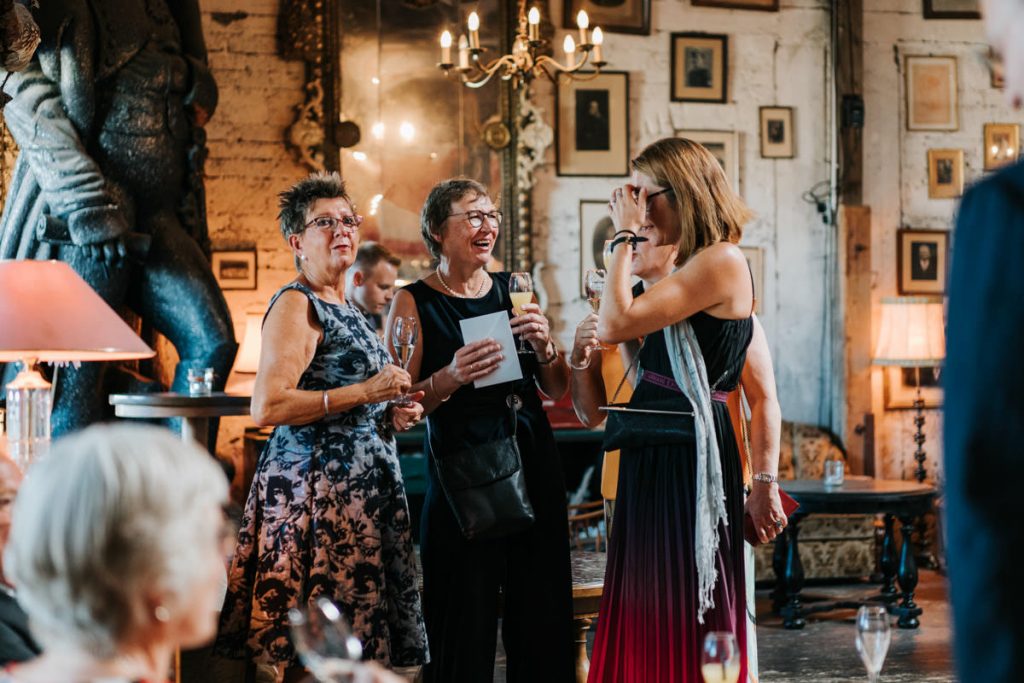
<svg viewBox="0 0 1024 683"><path fill-rule="evenodd" d="M309 299L324 330L298 387L362 382L388 364L354 306ZM386 403L367 403L308 425L273 430L256 467L228 573L217 650L264 664L298 664L288 610L334 600L385 666L427 659L409 504Z"/></svg>

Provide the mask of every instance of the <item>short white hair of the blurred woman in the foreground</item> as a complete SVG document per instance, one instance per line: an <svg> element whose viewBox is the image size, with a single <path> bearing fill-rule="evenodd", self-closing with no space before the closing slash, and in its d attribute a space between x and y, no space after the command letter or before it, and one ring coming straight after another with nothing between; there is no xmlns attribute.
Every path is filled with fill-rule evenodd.
<svg viewBox="0 0 1024 683"><path fill-rule="evenodd" d="M37 461L14 503L4 570L44 649L112 656L173 612L209 571L210 514L227 500L213 458L160 427L94 425Z"/></svg>

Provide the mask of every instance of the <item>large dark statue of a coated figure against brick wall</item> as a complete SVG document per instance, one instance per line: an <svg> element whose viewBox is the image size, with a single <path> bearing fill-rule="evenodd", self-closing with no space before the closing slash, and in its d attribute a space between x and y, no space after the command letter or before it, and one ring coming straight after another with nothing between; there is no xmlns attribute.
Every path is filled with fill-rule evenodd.
<svg viewBox="0 0 1024 683"><path fill-rule="evenodd" d="M45 0L36 20L36 56L2 74L20 155L0 258L66 261L171 340L174 390L194 365L222 387L237 344L208 260L202 126L217 90L198 0ZM106 368L60 373L55 434L103 416Z"/></svg>

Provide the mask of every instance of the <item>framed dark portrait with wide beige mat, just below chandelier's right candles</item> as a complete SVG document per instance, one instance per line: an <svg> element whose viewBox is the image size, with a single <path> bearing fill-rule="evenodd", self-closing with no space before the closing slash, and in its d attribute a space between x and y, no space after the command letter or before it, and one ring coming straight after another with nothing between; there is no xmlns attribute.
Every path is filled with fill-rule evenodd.
<svg viewBox="0 0 1024 683"><path fill-rule="evenodd" d="M626 72L558 79L555 165L558 175L630 173L630 84Z"/></svg>

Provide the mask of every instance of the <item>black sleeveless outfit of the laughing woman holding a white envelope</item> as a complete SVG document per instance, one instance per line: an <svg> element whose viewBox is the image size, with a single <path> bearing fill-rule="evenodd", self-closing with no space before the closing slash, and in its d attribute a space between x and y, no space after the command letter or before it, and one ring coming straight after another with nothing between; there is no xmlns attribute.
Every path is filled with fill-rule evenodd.
<svg viewBox="0 0 1024 683"><path fill-rule="evenodd" d="M479 299L442 294L423 282L407 287L423 331L420 378L447 366L463 344L459 321L512 309L508 273ZM573 680L572 589L565 484L558 451L537 392L537 359L519 355L523 379L482 389L463 386L428 418L426 447L443 454L503 436L510 393L522 399L516 438L537 521L504 539L467 541L431 462L421 526L423 613L430 664L426 683L494 679L498 617L510 682Z"/></svg>

